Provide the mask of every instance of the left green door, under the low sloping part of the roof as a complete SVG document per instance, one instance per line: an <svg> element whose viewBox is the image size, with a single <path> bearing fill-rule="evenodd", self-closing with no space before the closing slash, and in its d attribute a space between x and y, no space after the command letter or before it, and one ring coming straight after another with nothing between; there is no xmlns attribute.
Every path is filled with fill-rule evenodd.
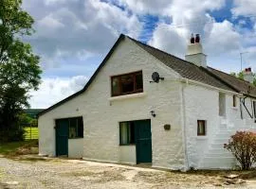
<svg viewBox="0 0 256 189"><path fill-rule="evenodd" d="M68 119L56 120L56 156L68 155Z"/></svg>

